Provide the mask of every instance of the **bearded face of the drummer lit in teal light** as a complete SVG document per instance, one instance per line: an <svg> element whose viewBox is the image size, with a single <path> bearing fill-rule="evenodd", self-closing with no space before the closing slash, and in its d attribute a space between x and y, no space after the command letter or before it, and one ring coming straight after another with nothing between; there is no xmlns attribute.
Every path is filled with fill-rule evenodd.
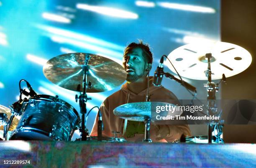
<svg viewBox="0 0 256 168"><path fill-rule="evenodd" d="M147 61L143 56L141 48L127 48L123 56L123 67L125 68L129 82L134 82L146 76Z"/></svg>

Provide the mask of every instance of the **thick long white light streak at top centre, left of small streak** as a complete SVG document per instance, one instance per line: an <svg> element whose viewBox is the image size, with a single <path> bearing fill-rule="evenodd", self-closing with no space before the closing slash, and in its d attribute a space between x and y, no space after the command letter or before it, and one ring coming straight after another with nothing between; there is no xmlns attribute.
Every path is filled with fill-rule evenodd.
<svg viewBox="0 0 256 168"><path fill-rule="evenodd" d="M103 15L108 15L116 18L125 18L125 19L138 19L138 14L132 13L125 10L120 10L116 8L104 7L104 6L92 6L87 4L77 4L78 9L89 10L92 12L100 13Z"/></svg>

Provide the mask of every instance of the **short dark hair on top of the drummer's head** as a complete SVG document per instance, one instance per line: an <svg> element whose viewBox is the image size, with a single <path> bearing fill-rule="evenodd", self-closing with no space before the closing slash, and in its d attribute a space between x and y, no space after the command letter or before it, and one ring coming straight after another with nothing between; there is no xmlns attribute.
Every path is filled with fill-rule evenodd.
<svg viewBox="0 0 256 168"><path fill-rule="evenodd" d="M134 43L133 42L133 43L129 44L127 47L125 47L124 53L125 53L127 48L133 49L133 48L139 47L139 48L142 49L143 55L148 59L147 63L152 64L153 63L153 54L150 51L149 45L147 43L146 44L143 43L142 40L138 40L138 41L139 41L139 43Z"/></svg>

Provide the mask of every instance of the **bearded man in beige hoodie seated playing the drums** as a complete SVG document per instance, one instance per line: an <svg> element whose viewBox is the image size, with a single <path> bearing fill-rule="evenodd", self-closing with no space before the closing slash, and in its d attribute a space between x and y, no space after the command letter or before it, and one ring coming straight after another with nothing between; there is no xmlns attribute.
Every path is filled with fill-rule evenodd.
<svg viewBox="0 0 256 168"><path fill-rule="evenodd" d="M144 139L144 122L129 121L113 114L116 107L132 102L145 102L147 95L147 74L151 70L153 55L147 44L142 41L129 44L123 54L123 67L127 78L120 90L110 95L100 106L104 130L102 136L113 137L113 131L121 132L118 137L128 141L142 141ZM164 87L155 87L150 77L149 94L151 101L177 99L177 97ZM97 136L98 117L94 122L91 136ZM191 134L188 125L154 125L151 123L150 138L153 142L173 142L179 140L184 134Z"/></svg>

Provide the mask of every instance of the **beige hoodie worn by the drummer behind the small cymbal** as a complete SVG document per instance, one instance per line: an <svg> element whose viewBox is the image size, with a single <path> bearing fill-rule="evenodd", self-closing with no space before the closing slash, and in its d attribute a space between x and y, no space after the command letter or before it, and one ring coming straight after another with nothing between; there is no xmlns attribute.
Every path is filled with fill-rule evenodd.
<svg viewBox="0 0 256 168"><path fill-rule="evenodd" d="M168 89L164 87L155 87L152 84L152 78L150 79L151 86L149 87L149 94L151 94L151 101L152 102L168 102L170 99L177 99L177 97L170 92ZM135 94L128 90L127 83L125 83L121 89L109 97L105 99L105 101L100 106L100 111L102 114L102 120L104 124L104 130L102 131L102 136L105 137L113 137L112 131L116 132L123 132L124 126L124 119L121 119L113 114L113 110L126 103L132 102L145 102L147 95L147 89L141 91L138 94ZM166 101L163 101L166 100ZM91 136L97 136L97 122L98 117L96 117ZM169 135L165 139L156 140L156 125L151 122L150 127L150 138L153 142L173 142L174 140L179 140L182 134L185 136L191 135L188 125L168 125L169 129L172 130L172 135ZM122 134L118 137L123 137ZM128 141L135 142L135 141L142 141L144 139L143 134L135 134L135 137L123 137Z"/></svg>

